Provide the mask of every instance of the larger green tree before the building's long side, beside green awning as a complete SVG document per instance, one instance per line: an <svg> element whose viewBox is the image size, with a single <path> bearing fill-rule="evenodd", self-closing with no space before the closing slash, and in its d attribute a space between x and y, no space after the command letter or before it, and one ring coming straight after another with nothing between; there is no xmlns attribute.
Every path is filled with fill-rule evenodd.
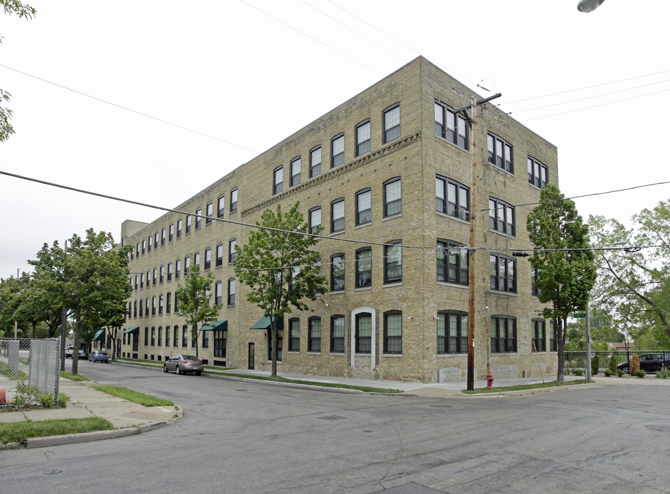
<svg viewBox="0 0 670 494"><path fill-rule="evenodd" d="M311 250L318 242L306 235L296 202L289 211L266 209L256 225L262 228L249 234L244 246L235 246L236 275L249 287L247 301L263 310L271 321L272 376L277 375L277 321L291 313L291 307L309 310L305 301L314 301L326 291L321 274L320 255Z"/></svg>

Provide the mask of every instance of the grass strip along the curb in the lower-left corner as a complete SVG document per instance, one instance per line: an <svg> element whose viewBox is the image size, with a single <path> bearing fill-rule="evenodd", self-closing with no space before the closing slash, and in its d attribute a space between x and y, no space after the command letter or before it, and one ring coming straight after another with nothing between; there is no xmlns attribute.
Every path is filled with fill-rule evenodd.
<svg viewBox="0 0 670 494"><path fill-rule="evenodd" d="M114 426L109 421L101 417L0 423L0 443L25 443L27 438L63 436L64 434L112 430L113 428Z"/></svg>

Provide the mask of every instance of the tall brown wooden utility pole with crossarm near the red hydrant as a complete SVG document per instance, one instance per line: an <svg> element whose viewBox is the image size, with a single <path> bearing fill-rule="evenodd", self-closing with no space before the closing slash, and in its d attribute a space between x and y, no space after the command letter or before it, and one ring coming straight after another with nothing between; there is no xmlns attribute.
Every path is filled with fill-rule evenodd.
<svg viewBox="0 0 670 494"><path fill-rule="evenodd" d="M471 103L463 108L454 110L454 114L464 113L468 125L471 129L472 139L470 147L471 168L472 168L472 183L470 188L470 246L468 248L468 311L467 311L467 390L471 391L475 388L475 244L477 241L477 160L479 158L477 152L477 106L490 102L502 96L497 93L489 96L486 99L480 99L475 102L475 98L471 97ZM472 118L467 114L468 108L472 108Z"/></svg>

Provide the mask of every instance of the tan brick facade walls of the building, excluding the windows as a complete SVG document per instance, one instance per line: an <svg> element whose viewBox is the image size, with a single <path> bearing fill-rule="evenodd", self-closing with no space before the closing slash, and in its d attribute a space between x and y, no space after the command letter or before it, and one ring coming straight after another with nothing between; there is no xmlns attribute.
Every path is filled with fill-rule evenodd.
<svg viewBox="0 0 670 494"><path fill-rule="evenodd" d="M210 272L223 287L224 305L219 320L227 320L225 336L225 357L222 349L215 355L214 334L210 333L208 347L200 350L201 357L209 364L229 367L249 365L249 349L254 352L256 368L269 368L268 338L264 329L250 329L263 314L258 307L245 301L247 289L236 284L234 305L227 305L227 285L234 279L232 265L228 262L229 242L236 239L242 245L250 231L245 224L255 224L267 208L290 207L300 201L305 220L309 211L321 208L324 226L318 250L322 256L324 274L331 274L331 257L344 254L344 290L332 290L323 294L320 301L311 303L313 311L289 314L284 320L282 341L282 362L279 371L313 373L318 375L344 375L374 377L379 379L400 379L412 381L436 381L439 379L465 380L467 353L449 353L438 347L438 321L443 316L440 311L467 312L469 290L467 285L437 280L438 239L469 244L469 222L448 213L436 211L436 177L446 182L457 183L462 189L471 189L472 133L468 132L469 145L458 145L451 139L436 135L436 102L450 108L460 108L471 102L471 91L427 62L416 58L399 71L392 73L374 86L356 95L348 102L335 108L320 119L302 128L273 148L257 156L249 163L221 178L207 189L190 198L177 211L191 214L202 208L207 214L207 205L212 202L212 215L218 217L219 197L225 197L222 220L207 222L202 218L199 228L195 228L195 218L190 233L182 231L177 238L177 222L186 215L170 212L150 224L124 222L122 237L126 245L133 246L130 263L133 278L133 292L129 298L131 316L126 329L139 327L137 350L133 350L131 333L126 335L122 353L126 356L164 360L174 353L192 353L190 338L188 349L181 346L183 318L174 314L174 293L183 279L183 263L186 256L195 252L201 256L201 270L204 265L205 250L211 249ZM481 99L479 95L473 95ZM400 137L395 138L393 129L397 117L389 113L388 124L384 128L384 112L399 104ZM447 108L448 109L448 108ZM356 128L369 120L370 150L355 156ZM392 140L384 142L385 130ZM520 125L510 117L502 115L497 107L484 104L478 107L477 126L477 205L476 211L476 369L478 378L487 371L487 364L502 375L530 375L537 356L531 353L532 320L537 318L541 305L531 295L531 266L528 259L512 257L512 250L530 248L526 233L526 215L533 206L523 206L539 200L539 187L528 181L526 161L532 156L548 172L548 181L558 182L557 149L544 139ZM513 150L513 171L489 163L487 157L487 134L492 132L500 142L508 143ZM331 168L331 139L344 134L344 163ZM362 134L364 135L364 134ZM454 138L456 139L456 138ZM311 150L321 146L322 167L320 174L310 178ZM291 161L300 156L300 183L291 186ZM282 191L273 193L274 170L283 167ZM401 212L387 214L385 184L399 179L401 187ZM236 189L238 204L231 211L231 191ZM357 225L357 192L370 191L370 220ZM344 229L331 233L331 204L344 198ZM496 204L513 209L515 214L513 233L493 231L489 225L489 198ZM389 204L389 207L397 206ZM502 207L500 208L502 211ZM237 223L232 223L237 222ZM174 237L170 241L170 224L175 225ZM162 229L166 228L165 242ZM156 246L156 235L158 246ZM152 238L148 252L148 238ZM357 242L345 242L344 240ZM401 280L393 279L385 283L385 247L388 242L402 244ZM142 243L145 242L144 254ZM139 243L139 256L137 244ZM216 266L216 248L223 244L223 263ZM356 256L361 248L371 249L371 283L356 287ZM493 250L491 250L493 249ZM500 249L500 250L497 250ZM455 251L452 251L452 253ZM500 255L504 262L515 263L516 290L491 290L491 253ZM175 279L175 263L181 261L179 280ZM172 263L172 277L167 279L168 263ZM160 270L164 266L161 281ZM157 270L157 282L153 284L153 270ZM146 272L150 272L150 286ZM391 270L389 272L392 272ZM144 273L144 285L137 287L135 277ZM393 271L397 274L397 270ZM212 289L214 292L214 289ZM170 293L170 313L166 310L167 294ZM213 293L214 295L214 293ZM159 300L163 297L162 314ZM156 314L152 314L153 298L157 298ZM150 313L146 314L146 299L149 299ZM139 310L135 315L135 303L144 303L142 317ZM385 314L390 314L388 329ZM399 314L399 315L398 315ZM504 344L515 342L516 351L491 351L491 317L511 316L515 321L515 338L508 338ZM344 351L331 352L331 318L344 317ZM299 348L289 351L289 322L298 318L300 328ZM308 351L309 318L320 318L320 351ZM360 324L360 338L357 335L357 321ZM401 329L399 329L401 325ZM175 348L173 334L179 328L178 347ZM170 328L170 342L166 346L165 329ZM152 344L151 333L154 333ZM161 341L159 343L159 328ZM392 329L391 329L392 328ZM147 342L145 342L145 329ZM370 337L366 335L369 331ZM401 332L401 337L397 334ZM546 351L539 352L539 366L548 370L555 368L556 354L550 351L550 328L546 322ZM394 336L394 338L390 338ZM312 340L315 344L316 339ZM386 351L385 341L392 348L401 351ZM440 340L445 342L444 339ZM336 345L340 345L338 340ZM202 342L200 343L202 344ZM360 344L363 351L355 351ZM442 350L440 350L442 348ZM368 350L369 349L369 350ZM510 348L506 346L506 350ZM513 349L513 348L512 348Z"/></svg>

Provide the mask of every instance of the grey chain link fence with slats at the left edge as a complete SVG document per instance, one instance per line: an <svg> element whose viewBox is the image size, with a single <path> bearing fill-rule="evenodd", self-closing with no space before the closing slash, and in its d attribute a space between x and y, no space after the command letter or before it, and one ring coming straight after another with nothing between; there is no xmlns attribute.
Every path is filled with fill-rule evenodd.
<svg viewBox="0 0 670 494"><path fill-rule="evenodd" d="M58 403L59 370L59 338L0 338L0 407Z"/></svg>

